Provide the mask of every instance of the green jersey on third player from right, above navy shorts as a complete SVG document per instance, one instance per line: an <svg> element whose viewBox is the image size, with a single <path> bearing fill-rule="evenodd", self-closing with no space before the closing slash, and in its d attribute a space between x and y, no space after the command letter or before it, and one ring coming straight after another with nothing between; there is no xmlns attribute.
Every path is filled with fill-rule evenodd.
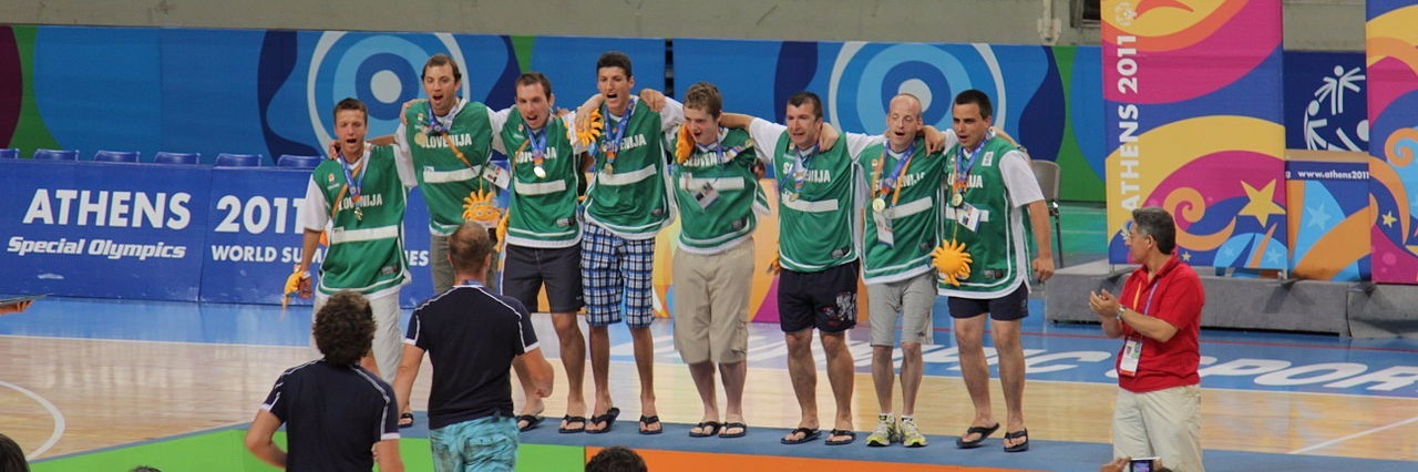
<svg viewBox="0 0 1418 472"><path fill-rule="evenodd" d="M800 160L788 133L773 147L778 181L778 257L783 268L820 272L856 259L856 208L847 136ZM801 166L801 167L800 167ZM801 187L797 170L801 170Z"/></svg>

